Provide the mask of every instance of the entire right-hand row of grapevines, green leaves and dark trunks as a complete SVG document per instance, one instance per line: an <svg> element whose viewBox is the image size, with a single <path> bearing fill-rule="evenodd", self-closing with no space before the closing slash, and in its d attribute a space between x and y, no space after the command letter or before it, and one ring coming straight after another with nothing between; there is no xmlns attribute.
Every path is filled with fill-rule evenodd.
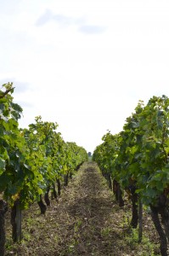
<svg viewBox="0 0 169 256"><path fill-rule="evenodd" d="M119 205L124 191L132 200L131 226L139 224L142 239L142 211L149 207L166 256L169 241L169 98L153 96L147 105L138 102L123 131L107 132L93 153ZM139 219L139 221L138 221Z"/></svg>

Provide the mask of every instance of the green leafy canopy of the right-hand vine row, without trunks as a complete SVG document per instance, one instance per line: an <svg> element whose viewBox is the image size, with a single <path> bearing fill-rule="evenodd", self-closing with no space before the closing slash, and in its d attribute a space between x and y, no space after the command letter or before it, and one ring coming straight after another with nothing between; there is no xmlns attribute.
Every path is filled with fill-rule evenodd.
<svg viewBox="0 0 169 256"><path fill-rule="evenodd" d="M134 187L144 204L155 205L169 189L169 99L153 96L144 106L138 102L118 135L103 137L93 160L111 172L123 189Z"/></svg>

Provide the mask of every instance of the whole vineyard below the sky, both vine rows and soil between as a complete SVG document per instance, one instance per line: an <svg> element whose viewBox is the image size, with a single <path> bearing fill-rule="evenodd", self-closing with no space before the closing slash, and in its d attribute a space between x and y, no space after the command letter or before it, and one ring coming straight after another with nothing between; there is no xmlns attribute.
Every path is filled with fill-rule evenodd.
<svg viewBox="0 0 169 256"><path fill-rule="evenodd" d="M88 161L57 123L20 129L13 92L0 90L0 255L169 255L169 99L138 102Z"/></svg>

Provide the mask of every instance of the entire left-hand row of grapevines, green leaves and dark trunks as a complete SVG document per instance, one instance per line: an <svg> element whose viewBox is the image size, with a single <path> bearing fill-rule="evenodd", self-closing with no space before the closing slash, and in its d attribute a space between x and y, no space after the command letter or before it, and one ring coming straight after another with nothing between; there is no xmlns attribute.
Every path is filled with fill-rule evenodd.
<svg viewBox="0 0 169 256"><path fill-rule="evenodd" d="M65 143L57 123L41 116L20 129L22 108L14 103L12 83L0 90L0 255L5 251L5 213L11 208L13 241L20 241L21 210L37 201L41 213L50 205L48 193L60 195L87 152L76 143ZM56 189L57 188L57 189ZM43 202L43 198L45 203Z"/></svg>

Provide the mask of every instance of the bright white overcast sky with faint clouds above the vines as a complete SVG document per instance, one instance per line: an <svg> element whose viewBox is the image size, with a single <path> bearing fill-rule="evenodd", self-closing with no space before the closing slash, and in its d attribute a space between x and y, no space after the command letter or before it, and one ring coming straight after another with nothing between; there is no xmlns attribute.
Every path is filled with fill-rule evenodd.
<svg viewBox="0 0 169 256"><path fill-rule="evenodd" d="M138 101L169 96L168 0L0 0L0 87L14 83L20 127L59 124L93 152Z"/></svg>

